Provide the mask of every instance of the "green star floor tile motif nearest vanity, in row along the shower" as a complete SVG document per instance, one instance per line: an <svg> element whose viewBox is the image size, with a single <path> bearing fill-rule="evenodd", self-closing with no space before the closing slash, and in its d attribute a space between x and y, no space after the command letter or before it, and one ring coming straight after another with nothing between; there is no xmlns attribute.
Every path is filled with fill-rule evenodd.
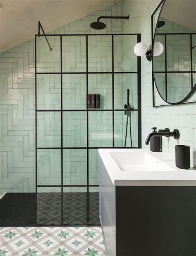
<svg viewBox="0 0 196 256"><path fill-rule="evenodd" d="M88 244L96 243L99 239L103 238L100 227L79 228L77 232L77 237Z"/></svg>

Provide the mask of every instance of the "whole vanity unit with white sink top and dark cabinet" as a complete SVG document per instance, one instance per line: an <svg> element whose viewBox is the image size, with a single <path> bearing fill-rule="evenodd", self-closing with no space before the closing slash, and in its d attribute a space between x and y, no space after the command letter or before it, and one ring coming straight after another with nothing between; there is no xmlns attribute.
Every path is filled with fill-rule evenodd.
<svg viewBox="0 0 196 256"><path fill-rule="evenodd" d="M196 169L145 149L99 154L106 255L196 255Z"/></svg>

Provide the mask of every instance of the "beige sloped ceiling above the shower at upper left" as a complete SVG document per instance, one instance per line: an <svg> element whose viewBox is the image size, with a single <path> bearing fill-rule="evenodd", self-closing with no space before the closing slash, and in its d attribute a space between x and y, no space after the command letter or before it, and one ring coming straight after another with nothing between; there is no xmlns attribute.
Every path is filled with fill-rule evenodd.
<svg viewBox="0 0 196 256"><path fill-rule="evenodd" d="M0 52L33 39L38 21L46 33L114 2L118 0L0 0Z"/></svg>

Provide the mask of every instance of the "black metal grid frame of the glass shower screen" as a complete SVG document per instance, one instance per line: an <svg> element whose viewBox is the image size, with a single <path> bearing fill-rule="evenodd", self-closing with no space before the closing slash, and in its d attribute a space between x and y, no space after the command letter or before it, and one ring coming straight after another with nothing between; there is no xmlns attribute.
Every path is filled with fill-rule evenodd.
<svg viewBox="0 0 196 256"><path fill-rule="evenodd" d="M137 42L141 41L141 34L47 34L47 37L50 36L58 36L60 37L60 72L37 72L37 47L36 47L36 39L38 36L44 36L45 34L36 34L35 35L35 112L36 112L36 117L35 117L35 137L36 137L36 193L37 193L37 188L39 187L58 187L61 188L61 193L62 193L62 200L63 200L63 188L64 187L86 187L87 188L87 214L89 217L89 188L90 187L99 187L99 185L89 185L89 159L88 159L88 151L89 149L99 149L100 147L89 147L88 144L88 112L90 111L107 111L107 112L112 112L112 147L104 147L104 148L124 148L124 147L115 147L115 139L114 139L114 114L116 111L121 111L124 112L126 110L116 110L114 107L114 74L115 73L136 73L137 74L137 83L138 83L138 89L137 89L137 101L138 101L138 109L134 109L133 111L138 112L138 146L137 147L132 147L132 148L141 148L141 57L137 57L137 71L136 72L115 72L114 71L114 36L121 35L121 36L126 36L126 35L136 35L137 36ZM86 37L86 72L62 72L62 37L69 37L69 36L85 36ZM88 37L91 36L111 36L112 37L112 71L111 72L88 72ZM63 74L86 74L86 95L88 95L88 74L112 74L112 109L110 110L102 110L102 109L88 109L88 97L86 97L86 110L63 110L62 108L62 75ZM60 85L61 85L61 109L60 110L38 110L37 109L37 74L60 74ZM62 114L63 112L70 111L85 111L87 113L86 115L86 131L87 131L87 145L86 147L63 147L63 122L62 122ZM60 112L61 113L61 146L60 147L37 147L37 112ZM131 148L131 147L127 147ZM60 149L61 150L61 185L38 185L38 180L37 180L37 150L39 149ZM87 152L87 184L86 185L63 185L63 149L86 149ZM62 205L62 225L63 225L63 205Z"/></svg>

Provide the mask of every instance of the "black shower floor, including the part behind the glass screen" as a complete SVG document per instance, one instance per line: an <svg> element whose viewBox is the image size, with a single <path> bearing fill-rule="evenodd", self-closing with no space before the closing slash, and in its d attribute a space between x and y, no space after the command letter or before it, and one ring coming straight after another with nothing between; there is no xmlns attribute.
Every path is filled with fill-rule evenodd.
<svg viewBox="0 0 196 256"><path fill-rule="evenodd" d="M0 209L0 227L100 226L97 192L6 193Z"/></svg>

